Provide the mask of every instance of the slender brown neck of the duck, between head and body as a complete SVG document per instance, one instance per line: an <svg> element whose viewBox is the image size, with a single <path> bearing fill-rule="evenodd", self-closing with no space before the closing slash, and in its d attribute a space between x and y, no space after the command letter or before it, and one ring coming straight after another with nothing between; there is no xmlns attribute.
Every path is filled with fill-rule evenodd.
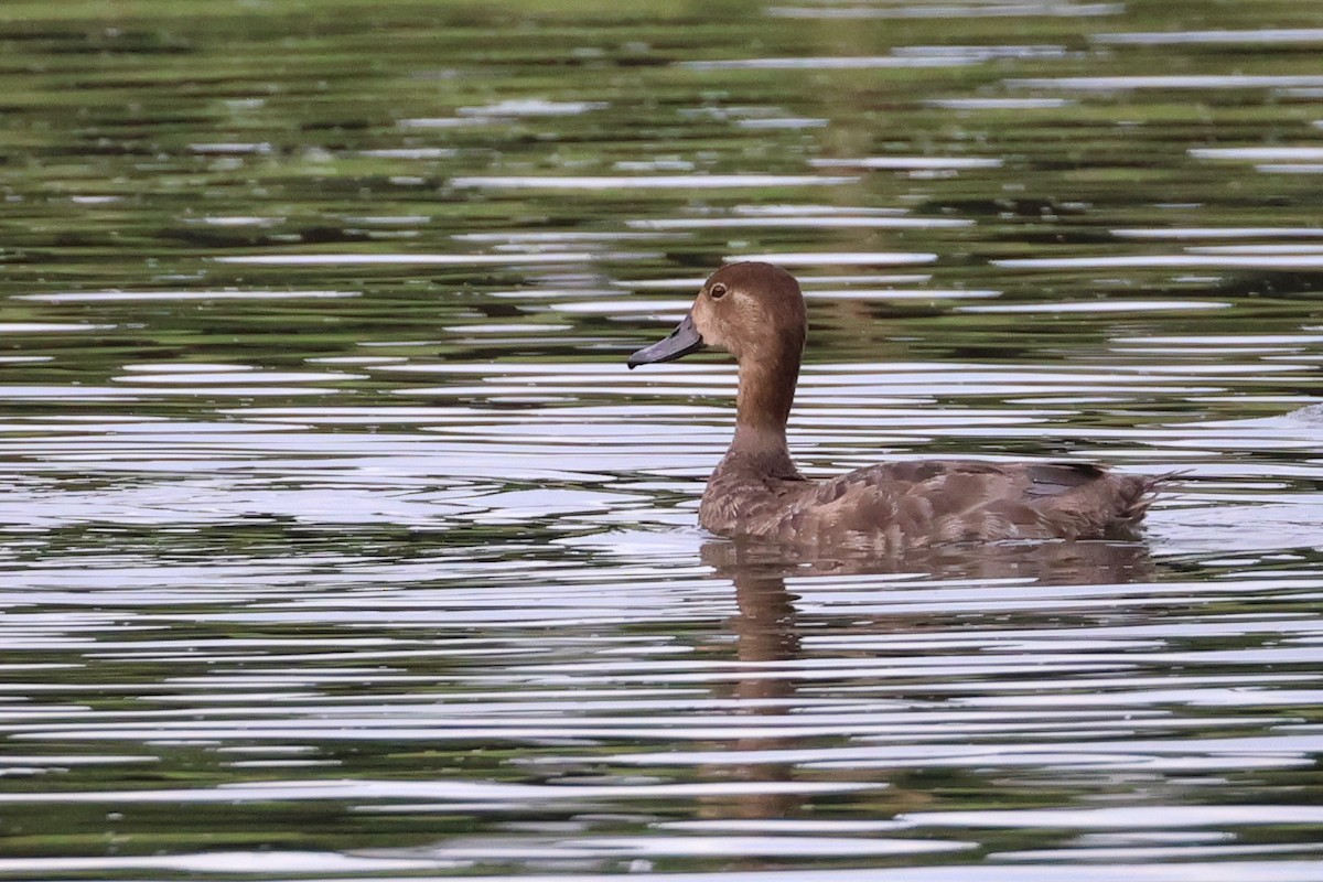
<svg viewBox="0 0 1323 882"><path fill-rule="evenodd" d="M773 477L799 480L799 469L786 446L786 421L795 401L798 378L798 352L775 361L740 365L736 436L726 461L738 461Z"/></svg>

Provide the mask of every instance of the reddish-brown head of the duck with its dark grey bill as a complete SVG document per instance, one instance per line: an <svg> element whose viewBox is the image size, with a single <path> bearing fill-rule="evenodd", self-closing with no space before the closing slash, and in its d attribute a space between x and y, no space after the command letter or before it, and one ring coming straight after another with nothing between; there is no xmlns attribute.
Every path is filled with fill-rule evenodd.
<svg viewBox="0 0 1323 882"><path fill-rule="evenodd" d="M668 337L639 349L627 364L675 361L713 348L741 365L792 362L798 372L806 329L804 296L795 276L770 263L732 263L703 283L689 315Z"/></svg>

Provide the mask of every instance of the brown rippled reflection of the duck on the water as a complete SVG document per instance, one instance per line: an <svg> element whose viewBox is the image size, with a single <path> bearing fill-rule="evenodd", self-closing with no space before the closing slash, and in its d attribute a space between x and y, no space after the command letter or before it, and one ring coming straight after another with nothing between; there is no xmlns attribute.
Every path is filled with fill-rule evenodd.
<svg viewBox="0 0 1323 882"><path fill-rule="evenodd" d="M736 657L741 665L749 666L747 676L737 678L729 686L729 697L736 698L744 713L750 717L767 717L769 727L782 734L745 735L730 744L733 756L746 755L747 762L722 764L709 770L714 779L737 776L749 782L789 783L795 780L823 780L831 778L830 771L803 768L792 760L766 760L769 754L783 751L808 752L808 735L783 734L783 719L799 717L811 709L812 697L799 696L808 670L820 672L806 664L803 635L822 631L830 625L830 632L840 635L843 627L830 607L826 610L818 594L816 584L831 592L843 586L833 584L832 577L860 577L878 574L878 595L893 582L885 574L894 575L896 561L877 561L865 557L815 558L810 561L787 557L785 545L765 540L714 540L704 543L703 562L713 569L713 578L730 579L734 584L738 611L730 619L729 628L736 637ZM930 549L909 558L900 567L906 573L922 574L929 578L960 579L1017 579L1043 584L1117 584L1127 582L1150 582L1154 566L1148 550L1138 542L1040 542L1004 546L949 546ZM787 578L791 587L787 588ZM913 587L914 582L905 577L904 584ZM849 579L849 590L859 591L856 578ZM1032 588L1028 588L1032 591ZM803 591L803 595L798 594ZM804 598L808 603L804 603ZM812 610L812 611L810 611ZM847 606L840 615L848 616L847 629L860 636L914 633L922 635L931 629L927 616L905 614L861 615L853 606ZM861 649L864 656L869 651ZM849 676L843 673L841 676ZM818 678L811 681L819 684ZM913 701L930 702L931 697L916 700L908 694L904 681L894 685L881 684L888 690L886 702ZM812 694L820 694L814 688ZM860 702L873 702L859 694ZM828 714L830 717L830 714ZM799 717L803 719L802 717ZM824 721L826 722L826 721ZM757 726L751 727L757 731ZM812 737L814 742L818 741ZM926 808L930 803L930 788L909 783L905 770L878 770L875 783L885 785L878 789L872 804L882 813L902 815ZM953 779L960 775L958 770L946 770ZM852 772L851 780L861 782L860 774ZM814 811L814 797L794 791L773 793L749 793L714 804L709 817L738 820L777 820L811 816L822 820L822 811ZM744 869L757 869L763 862L750 860Z"/></svg>

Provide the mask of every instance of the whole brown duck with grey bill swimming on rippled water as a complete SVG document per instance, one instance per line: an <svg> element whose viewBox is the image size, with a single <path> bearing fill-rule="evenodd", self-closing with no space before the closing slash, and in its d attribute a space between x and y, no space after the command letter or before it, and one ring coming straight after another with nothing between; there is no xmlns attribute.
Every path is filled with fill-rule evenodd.
<svg viewBox="0 0 1323 882"><path fill-rule="evenodd" d="M806 477L791 459L786 423L807 333L794 275L771 263L729 263L703 283L669 336L628 357L634 369L704 349L734 356L736 428L699 504L705 530L885 554L1135 536L1162 479L1089 463L917 459Z"/></svg>

